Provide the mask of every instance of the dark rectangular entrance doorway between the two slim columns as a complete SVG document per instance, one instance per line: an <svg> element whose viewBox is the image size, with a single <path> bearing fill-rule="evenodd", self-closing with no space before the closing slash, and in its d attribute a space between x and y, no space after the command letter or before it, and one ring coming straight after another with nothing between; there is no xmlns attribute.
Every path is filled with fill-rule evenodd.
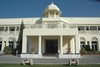
<svg viewBox="0 0 100 67"><path fill-rule="evenodd" d="M45 41L45 54L56 55L58 53L58 40L51 39Z"/></svg>

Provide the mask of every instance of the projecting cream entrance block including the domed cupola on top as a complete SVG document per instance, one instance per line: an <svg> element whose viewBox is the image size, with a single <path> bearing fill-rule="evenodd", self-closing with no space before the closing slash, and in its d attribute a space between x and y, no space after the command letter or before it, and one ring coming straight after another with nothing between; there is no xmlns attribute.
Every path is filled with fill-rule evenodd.
<svg viewBox="0 0 100 67"><path fill-rule="evenodd" d="M50 4L43 17L23 29L23 58L75 58L79 56L78 30L62 19L60 9ZM24 22L24 21L23 21ZM29 21L28 21L29 22ZM33 22L32 22L33 23Z"/></svg>

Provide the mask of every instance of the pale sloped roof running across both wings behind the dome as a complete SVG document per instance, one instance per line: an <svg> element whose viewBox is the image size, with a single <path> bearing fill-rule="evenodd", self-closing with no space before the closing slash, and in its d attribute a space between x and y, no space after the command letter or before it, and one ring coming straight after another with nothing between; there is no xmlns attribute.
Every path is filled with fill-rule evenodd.
<svg viewBox="0 0 100 67"><path fill-rule="evenodd" d="M40 18L1 18L0 24L34 24ZM48 21L52 21L52 18L47 18ZM59 17L53 18L53 20L61 20L68 24L100 24L100 17Z"/></svg>

